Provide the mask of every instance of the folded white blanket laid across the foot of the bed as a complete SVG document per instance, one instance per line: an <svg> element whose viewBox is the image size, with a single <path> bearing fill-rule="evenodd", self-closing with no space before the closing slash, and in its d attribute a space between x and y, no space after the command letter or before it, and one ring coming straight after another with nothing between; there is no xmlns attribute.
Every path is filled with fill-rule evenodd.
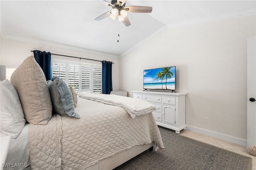
<svg viewBox="0 0 256 170"><path fill-rule="evenodd" d="M156 107L151 103L132 97L92 93L80 93L78 96L84 99L90 99L100 103L122 107L130 114L132 118L145 115L156 110Z"/></svg>

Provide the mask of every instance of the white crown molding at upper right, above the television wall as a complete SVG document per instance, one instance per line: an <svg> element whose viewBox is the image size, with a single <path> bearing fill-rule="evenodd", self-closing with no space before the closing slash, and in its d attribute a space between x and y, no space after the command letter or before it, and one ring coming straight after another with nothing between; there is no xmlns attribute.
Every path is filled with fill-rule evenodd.
<svg viewBox="0 0 256 170"><path fill-rule="evenodd" d="M230 12L230 13L216 15L216 16L199 18L196 20L188 20L188 21L184 21L184 22L173 23L173 24L167 25L167 28L177 28L177 27L183 27L183 26L203 24L203 23L207 23L207 22L228 20L228 19L238 18L238 17L243 17L243 16L251 16L251 15L255 15L255 14L256 14L256 8L251 8L248 10L241 10L241 11Z"/></svg>

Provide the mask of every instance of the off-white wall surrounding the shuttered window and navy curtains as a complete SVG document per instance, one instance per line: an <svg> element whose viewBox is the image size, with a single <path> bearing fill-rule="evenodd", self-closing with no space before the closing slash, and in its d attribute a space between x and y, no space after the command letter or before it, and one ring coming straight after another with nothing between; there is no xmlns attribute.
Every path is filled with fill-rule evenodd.
<svg viewBox="0 0 256 170"><path fill-rule="evenodd" d="M26 59L26 57L30 55L34 55L33 50L40 50L40 51L46 51L51 52L55 54L61 54L61 55L69 55L74 57L82 57L82 58L88 58L88 59L96 59L96 60L106 60L106 61L112 61L114 64L112 64L112 84L113 84L113 90L119 89L119 59L118 57L109 57L107 55L99 55L99 54L90 54L86 52L80 52L70 49L64 49L60 47L52 47L48 45L40 45L37 43L28 43L28 42L22 42L22 41L16 41L16 40L10 40L6 38L1 38L1 65L6 65L7 68L17 68L23 61ZM58 55L52 55L52 58L58 58L58 59L67 59L72 61L82 61L84 63L95 63L100 64L98 61L91 61L91 60L80 60L80 59L74 59L70 57L61 57Z"/></svg>

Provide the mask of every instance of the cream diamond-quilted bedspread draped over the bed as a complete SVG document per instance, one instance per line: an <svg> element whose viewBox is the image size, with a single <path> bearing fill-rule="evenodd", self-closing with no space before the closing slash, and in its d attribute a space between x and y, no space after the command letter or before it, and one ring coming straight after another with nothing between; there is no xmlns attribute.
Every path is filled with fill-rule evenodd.
<svg viewBox="0 0 256 170"><path fill-rule="evenodd" d="M122 107L78 97L80 119L53 115L29 126L32 169L84 169L132 146L156 142L164 149L152 113L132 119Z"/></svg>

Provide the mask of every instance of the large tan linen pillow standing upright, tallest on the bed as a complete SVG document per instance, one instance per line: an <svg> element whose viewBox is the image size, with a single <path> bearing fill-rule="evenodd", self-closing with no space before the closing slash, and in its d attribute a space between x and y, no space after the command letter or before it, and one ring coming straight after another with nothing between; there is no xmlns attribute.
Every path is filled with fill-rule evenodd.
<svg viewBox="0 0 256 170"><path fill-rule="evenodd" d="M52 102L44 72L33 56L27 57L12 73L26 121L46 125L52 117Z"/></svg>

